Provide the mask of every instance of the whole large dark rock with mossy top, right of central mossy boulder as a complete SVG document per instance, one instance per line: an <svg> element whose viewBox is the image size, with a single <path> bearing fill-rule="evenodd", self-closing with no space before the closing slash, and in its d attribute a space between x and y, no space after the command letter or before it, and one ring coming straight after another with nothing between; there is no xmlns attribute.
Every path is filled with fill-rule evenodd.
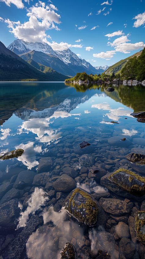
<svg viewBox="0 0 145 259"><path fill-rule="evenodd" d="M101 178L101 185L120 196L144 200L145 178L132 171L120 168L117 171L107 174Z"/></svg>

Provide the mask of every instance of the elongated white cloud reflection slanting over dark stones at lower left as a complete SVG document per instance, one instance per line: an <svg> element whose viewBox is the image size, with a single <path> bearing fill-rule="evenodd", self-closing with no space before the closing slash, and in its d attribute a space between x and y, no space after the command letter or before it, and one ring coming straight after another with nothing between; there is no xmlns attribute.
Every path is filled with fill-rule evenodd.
<svg viewBox="0 0 145 259"><path fill-rule="evenodd" d="M32 196L27 201L28 207L24 212L21 212L19 223L17 225L17 229L19 227L25 227L27 220L29 218L29 214L35 214L35 211L37 211L41 206L45 204L45 201L48 200L48 196L46 195L46 192L43 191L43 189L39 189L38 187L35 187L34 192L32 193Z"/></svg>

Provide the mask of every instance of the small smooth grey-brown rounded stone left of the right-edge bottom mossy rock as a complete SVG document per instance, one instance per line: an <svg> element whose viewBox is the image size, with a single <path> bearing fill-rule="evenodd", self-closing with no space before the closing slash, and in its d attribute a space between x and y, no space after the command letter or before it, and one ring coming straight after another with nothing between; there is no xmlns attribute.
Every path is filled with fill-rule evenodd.
<svg viewBox="0 0 145 259"><path fill-rule="evenodd" d="M115 231L119 238L129 238L130 237L129 227L124 222L119 222L115 226Z"/></svg>

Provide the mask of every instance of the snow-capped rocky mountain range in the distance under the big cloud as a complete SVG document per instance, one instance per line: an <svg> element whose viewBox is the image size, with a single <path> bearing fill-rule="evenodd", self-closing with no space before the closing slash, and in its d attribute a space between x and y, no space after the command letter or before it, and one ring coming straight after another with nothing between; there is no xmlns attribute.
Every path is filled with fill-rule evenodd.
<svg viewBox="0 0 145 259"><path fill-rule="evenodd" d="M8 49L20 55L20 57L25 60L28 60L28 55L31 54L31 59L35 62L49 66L65 75L74 76L79 72L96 74L96 69L89 62L85 59L80 59L70 49L54 51L47 43L29 43L19 39L14 40L13 43L8 46ZM25 55L27 53L29 54Z"/></svg>

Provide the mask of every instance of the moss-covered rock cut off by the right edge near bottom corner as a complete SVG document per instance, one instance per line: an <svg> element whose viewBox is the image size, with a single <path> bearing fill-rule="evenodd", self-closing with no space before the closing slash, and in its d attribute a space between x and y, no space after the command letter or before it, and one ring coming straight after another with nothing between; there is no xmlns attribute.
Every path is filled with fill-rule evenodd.
<svg viewBox="0 0 145 259"><path fill-rule="evenodd" d="M145 211L137 211L135 214L135 230L139 242L145 244Z"/></svg>

